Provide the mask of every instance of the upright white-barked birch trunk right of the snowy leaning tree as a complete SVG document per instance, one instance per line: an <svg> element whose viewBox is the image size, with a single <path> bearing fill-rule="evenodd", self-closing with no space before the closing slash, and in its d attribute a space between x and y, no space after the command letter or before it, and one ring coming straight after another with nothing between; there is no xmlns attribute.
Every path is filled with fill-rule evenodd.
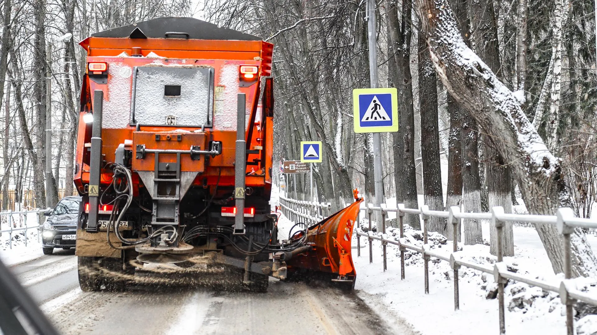
<svg viewBox="0 0 597 335"><path fill-rule="evenodd" d="M551 103L549 105L549 120L547 121L546 138L547 146L554 150L558 144L559 125L559 98L562 89L562 23L568 18L568 1L556 0L553 13L553 81L551 91Z"/></svg>

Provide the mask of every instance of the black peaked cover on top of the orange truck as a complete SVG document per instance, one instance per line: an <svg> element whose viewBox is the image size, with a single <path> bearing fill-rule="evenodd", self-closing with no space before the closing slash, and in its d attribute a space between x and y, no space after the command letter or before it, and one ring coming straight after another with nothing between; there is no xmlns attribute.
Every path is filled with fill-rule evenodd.
<svg viewBox="0 0 597 335"><path fill-rule="evenodd" d="M140 30L140 32L139 32ZM133 33L134 32L134 33ZM165 38L168 32L187 33L189 39L223 39L239 41L261 41L260 37L238 32L217 24L192 17L159 17L141 21L128 26L104 30L91 36L115 38ZM131 35L133 33L133 35ZM172 38L184 38L181 35L169 35Z"/></svg>

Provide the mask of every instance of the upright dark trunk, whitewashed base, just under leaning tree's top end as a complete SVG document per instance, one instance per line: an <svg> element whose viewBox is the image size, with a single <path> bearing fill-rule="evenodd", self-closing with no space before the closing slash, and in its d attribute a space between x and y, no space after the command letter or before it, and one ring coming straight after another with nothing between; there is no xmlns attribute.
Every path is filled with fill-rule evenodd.
<svg viewBox="0 0 597 335"><path fill-rule="evenodd" d="M442 172L439 162L438 89L433 64L426 50L423 32L418 33L418 101L421 114L421 159L423 196L431 210L444 210ZM447 220L431 217L428 231L445 235Z"/></svg>

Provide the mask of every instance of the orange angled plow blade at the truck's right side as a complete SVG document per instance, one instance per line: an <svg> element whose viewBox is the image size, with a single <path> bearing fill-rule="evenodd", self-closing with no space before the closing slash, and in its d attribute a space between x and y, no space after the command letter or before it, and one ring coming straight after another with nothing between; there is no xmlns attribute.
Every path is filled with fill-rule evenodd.
<svg viewBox="0 0 597 335"><path fill-rule="evenodd" d="M309 250L288 260L290 274L304 274L331 281L345 282L352 289L356 279L352 262L352 229L362 198L334 213L307 230L306 244ZM294 238L302 238L297 235Z"/></svg>

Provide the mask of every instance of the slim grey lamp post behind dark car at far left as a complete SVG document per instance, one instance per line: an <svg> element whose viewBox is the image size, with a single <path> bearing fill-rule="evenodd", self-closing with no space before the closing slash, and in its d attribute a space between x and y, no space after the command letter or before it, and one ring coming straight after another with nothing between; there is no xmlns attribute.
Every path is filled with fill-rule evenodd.
<svg viewBox="0 0 597 335"><path fill-rule="evenodd" d="M46 84L46 109L45 109L45 206L54 207L52 196L52 44L48 41L47 47L47 66L45 77Z"/></svg>

